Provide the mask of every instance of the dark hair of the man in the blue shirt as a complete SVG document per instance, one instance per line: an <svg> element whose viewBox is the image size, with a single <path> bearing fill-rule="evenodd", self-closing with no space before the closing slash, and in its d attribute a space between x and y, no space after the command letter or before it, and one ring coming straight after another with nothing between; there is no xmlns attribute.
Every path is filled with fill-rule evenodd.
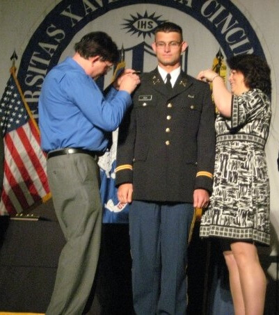
<svg viewBox="0 0 279 315"><path fill-rule="evenodd" d="M85 59L100 56L102 61L109 61L110 63L117 63L119 60L118 47L111 37L104 32L91 32L84 35L74 45L74 50Z"/></svg>

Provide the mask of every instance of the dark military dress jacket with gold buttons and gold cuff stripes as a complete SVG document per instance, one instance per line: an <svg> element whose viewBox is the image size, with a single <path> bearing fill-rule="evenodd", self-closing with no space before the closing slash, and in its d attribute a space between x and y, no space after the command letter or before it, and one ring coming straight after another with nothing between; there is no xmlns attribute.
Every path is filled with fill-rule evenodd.
<svg viewBox="0 0 279 315"><path fill-rule="evenodd" d="M141 76L118 134L116 186L134 184L134 200L193 202L212 191L214 104L209 85L184 72L172 91L158 72Z"/></svg>

